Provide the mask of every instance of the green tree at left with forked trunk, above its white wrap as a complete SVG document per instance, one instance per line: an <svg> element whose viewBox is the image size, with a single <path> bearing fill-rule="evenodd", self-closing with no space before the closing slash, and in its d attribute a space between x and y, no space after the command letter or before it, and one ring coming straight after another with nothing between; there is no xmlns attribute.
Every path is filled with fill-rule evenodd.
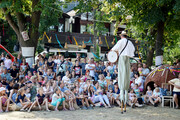
<svg viewBox="0 0 180 120"><path fill-rule="evenodd" d="M0 16L14 30L21 47L34 47L36 51L40 30L58 22L60 5L59 0L0 0ZM29 40L24 41L23 31L28 32Z"/></svg>

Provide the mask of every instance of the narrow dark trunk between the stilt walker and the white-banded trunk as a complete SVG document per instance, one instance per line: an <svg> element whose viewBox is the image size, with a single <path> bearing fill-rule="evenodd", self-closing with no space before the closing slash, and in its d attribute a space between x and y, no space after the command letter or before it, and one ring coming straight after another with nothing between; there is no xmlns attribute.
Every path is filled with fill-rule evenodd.
<svg viewBox="0 0 180 120"><path fill-rule="evenodd" d="M147 53L146 64L148 67L153 65L154 47L150 48Z"/></svg>

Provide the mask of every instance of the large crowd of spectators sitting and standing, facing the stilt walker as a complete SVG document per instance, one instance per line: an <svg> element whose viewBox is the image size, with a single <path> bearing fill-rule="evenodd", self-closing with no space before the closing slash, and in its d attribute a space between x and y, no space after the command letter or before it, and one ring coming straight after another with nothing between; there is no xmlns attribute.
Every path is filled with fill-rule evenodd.
<svg viewBox="0 0 180 120"><path fill-rule="evenodd" d="M43 105L50 111L49 104L54 106L55 111L59 111L59 106L65 111L79 108L87 110L96 106L121 106L117 71L116 64L81 58L80 54L72 62L71 58L65 59L63 55L47 57L43 53L38 56L36 64L30 67L21 54L12 62L9 55L2 53L0 112L9 111L10 104L16 104L21 111L28 112L34 106L41 110ZM156 84L154 90L147 86L146 94L143 94L149 72L145 63L139 63L136 70L131 67L127 104L132 108L150 103L158 106L161 102L161 88Z"/></svg>

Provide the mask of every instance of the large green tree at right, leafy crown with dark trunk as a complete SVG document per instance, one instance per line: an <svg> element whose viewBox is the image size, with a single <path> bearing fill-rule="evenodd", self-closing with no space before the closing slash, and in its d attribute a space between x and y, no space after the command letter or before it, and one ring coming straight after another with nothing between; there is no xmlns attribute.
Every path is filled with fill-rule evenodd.
<svg viewBox="0 0 180 120"><path fill-rule="evenodd" d="M110 19L118 14L122 22L125 22L126 16L131 15L130 22L138 26L138 29L142 30L144 27L156 31L154 39L156 57L163 55L163 48L171 41L166 39L172 34L168 29L179 30L179 27L175 27L175 24L177 26L180 22L179 0L108 0L106 6L109 8L108 12L112 14ZM117 10L119 13L116 13Z"/></svg>

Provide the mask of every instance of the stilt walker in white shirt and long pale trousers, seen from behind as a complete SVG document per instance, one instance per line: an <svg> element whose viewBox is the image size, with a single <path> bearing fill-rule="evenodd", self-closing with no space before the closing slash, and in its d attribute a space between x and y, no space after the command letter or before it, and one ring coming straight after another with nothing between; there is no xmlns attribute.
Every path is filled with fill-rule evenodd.
<svg viewBox="0 0 180 120"><path fill-rule="evenodd" d="M130 61L134 56L135 47L131 41L127 40L126 32L122 31L121 39L112 48L112 51L119 53L118 60L118 86L120 89L121 113L126 112L126 102L128 100L128 89L130 85Z"/></svg>

